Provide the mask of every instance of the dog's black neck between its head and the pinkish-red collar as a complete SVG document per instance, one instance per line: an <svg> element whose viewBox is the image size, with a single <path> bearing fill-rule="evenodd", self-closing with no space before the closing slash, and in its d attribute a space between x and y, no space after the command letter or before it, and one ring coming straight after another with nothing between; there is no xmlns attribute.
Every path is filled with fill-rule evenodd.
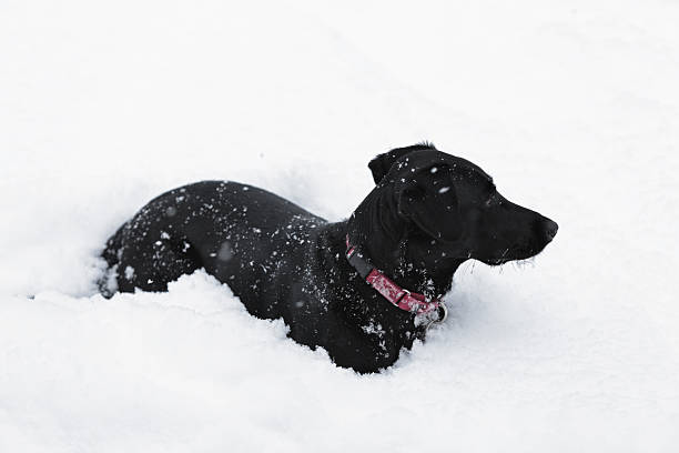
<svg viewBox="0 0 679 453"><path fill-rule="evenodd" d="M428 298L440 298L450 290L453 274L465 260L415 258L412 248L422 242L416 228L398 213L392 190L375 188L346 222L353 244L378 270L401 286ZM344 239L342 239L344 240ZM430 241L427 240L430 246ZM420 254L422 256L422 254Z"/></svg>

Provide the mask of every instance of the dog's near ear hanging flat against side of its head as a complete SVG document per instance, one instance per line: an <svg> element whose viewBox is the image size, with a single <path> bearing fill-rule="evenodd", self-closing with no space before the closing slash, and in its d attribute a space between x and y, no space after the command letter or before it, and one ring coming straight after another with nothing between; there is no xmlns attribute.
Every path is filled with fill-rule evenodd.
<svg viewBox="0 0 679 453"><path fill-rule="evenodd" d="M463 232L459 204L449 173L442 165L438 170L402 185L398 211L432 238L450 242Z"/></svg>

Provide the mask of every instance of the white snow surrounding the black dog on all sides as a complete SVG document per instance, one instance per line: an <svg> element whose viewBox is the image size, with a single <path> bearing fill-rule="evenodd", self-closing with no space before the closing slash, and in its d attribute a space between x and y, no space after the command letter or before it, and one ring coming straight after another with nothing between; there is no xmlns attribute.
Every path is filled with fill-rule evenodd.
<svg viewBox="0 0 679 453"><path fill-rule="evenodd" d="M678 23L675 0L1 0L0 452L676 452ZM204 273L95 292L165 190L341 220L371 158L424 139L560 230L465 264L383 374Z"/></svg>

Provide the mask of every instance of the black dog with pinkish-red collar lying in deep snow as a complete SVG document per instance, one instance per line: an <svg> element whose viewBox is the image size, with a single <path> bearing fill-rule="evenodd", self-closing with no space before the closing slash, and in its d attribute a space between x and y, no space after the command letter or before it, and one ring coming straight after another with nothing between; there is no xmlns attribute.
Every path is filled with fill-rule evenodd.
<svg viewBox="0 0 679 453"><path fill-rule="evenodd" d="M102 292L164 291L203 268L253 315L283 318L298 343L376 372L440 320L438 298L464 261L527 259L557 232L477 165L430 144L395 149L369 168L377 185L337 223L235 182L166 192L108 241Z"/></svg>

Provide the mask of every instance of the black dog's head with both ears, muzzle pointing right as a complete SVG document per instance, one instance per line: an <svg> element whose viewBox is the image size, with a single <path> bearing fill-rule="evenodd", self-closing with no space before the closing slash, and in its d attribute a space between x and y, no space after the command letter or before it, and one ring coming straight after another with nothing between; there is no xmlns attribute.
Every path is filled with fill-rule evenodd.
<svg viewBox="0 0 679 453"><path fill-rule="evenodd" d="M538 254L557 233L556 222L505 199L479 167L432 144L392 150L368 167L427 255L436 245L450 259L503 264Z"/></svg>

